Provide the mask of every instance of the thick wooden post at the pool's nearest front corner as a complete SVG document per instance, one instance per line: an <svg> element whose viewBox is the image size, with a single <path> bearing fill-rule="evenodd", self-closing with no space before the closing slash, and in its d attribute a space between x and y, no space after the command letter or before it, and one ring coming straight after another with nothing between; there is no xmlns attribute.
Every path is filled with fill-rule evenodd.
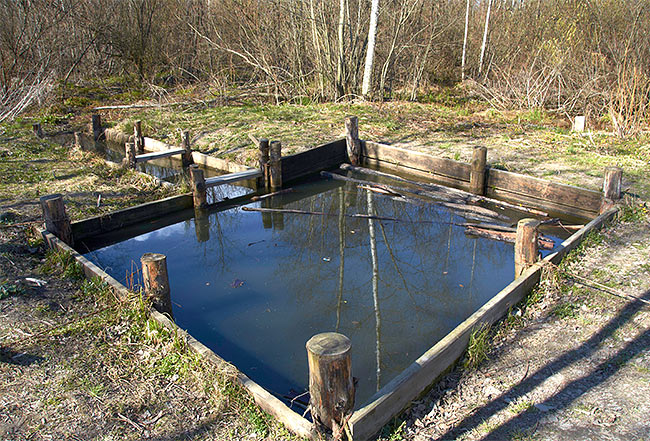
<svg viewBox="0 0 650 441"><path fill-rule="evenodd" d="M307 342L311 415L316 427L341 431L354 409L350 340L336 332L317 334Z"/></svg>

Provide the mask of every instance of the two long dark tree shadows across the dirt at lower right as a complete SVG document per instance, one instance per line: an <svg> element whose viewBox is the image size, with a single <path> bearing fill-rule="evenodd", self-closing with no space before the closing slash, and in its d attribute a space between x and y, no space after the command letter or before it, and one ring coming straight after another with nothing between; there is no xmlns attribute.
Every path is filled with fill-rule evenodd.
<svg viewBox="0 0 650 441"><path fill-rule="evenodd" d="M641 298L650 299L650 290L646 291ZM520 380L510 389L503 392L499 397L489 401L478 410L468 415L461 422L450 428L447 432L438 436L436 439L453 439L462 433L477 428L483 421L488 420L491 416L506 409L516 401L537 386L543 383L548 375L545 374L559 372L562 369L580 362L593 354L599 345L608 337L611 337L618 329L626 324L639 310L646 305L641 301L628 303L614 318L612 318L600 331L592 335L586 342L577 348L564 353L563 355L549 361L537 371L530 373L526 378ZM510 419L506 423L496 427L483 439L503 440L510 439L511 434L522 426L537 427L542 419L558 413L576 401L595 386L604 383L615 375L622 366L639 353L650 347L650 330L646 330L637 338L626 344L618 350L616 354L607 360L599 363L595 369L588 375L576 379L566 384L562 389L556 391L553 396L541 403L536 403L538 407L543 407L546 411L539 411L538 408L530 407L525 412ZM453 386L452 386L453 387Z"/></svg>

